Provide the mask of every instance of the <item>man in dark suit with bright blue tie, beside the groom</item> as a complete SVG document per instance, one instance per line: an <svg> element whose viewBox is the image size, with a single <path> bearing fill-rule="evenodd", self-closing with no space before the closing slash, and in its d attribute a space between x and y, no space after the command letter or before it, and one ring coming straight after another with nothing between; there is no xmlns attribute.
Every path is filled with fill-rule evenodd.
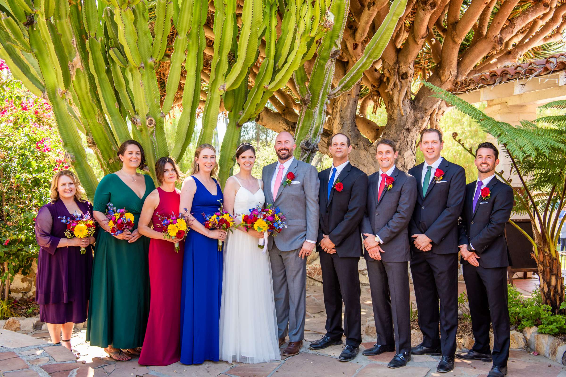
<svg viewBox="0 0 566 377"><path fill-rule="evenodd" d="M367 175L348 161L352 150L350 138L337 133L328 148L332 166L319 173L320 220L316 250L322 269L326 334L310 344L323 349L342 344L340 361L353 360L362 343L362 315L358 275L359 258L363 255L359 224L366 210ZM344 300L344 330L342 330Z"/></svg>

